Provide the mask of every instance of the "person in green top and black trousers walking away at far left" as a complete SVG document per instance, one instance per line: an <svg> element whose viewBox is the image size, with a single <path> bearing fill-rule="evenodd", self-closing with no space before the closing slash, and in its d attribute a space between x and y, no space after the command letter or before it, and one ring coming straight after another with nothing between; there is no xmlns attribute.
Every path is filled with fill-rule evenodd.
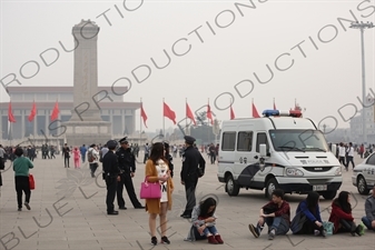
<svg viewBox="0 0 375 250"><path fill-rule="evenodd" d="M13 170L14 170L14 183L17 191L17 202L18 202L18 211L22 211L22 191L24 192L24 207L30 210L30 183L29 183L29 169L33 168L32 162L29 158L23 157L23 150L21 148L17 148L14 151L17 156L13 161Z"/></svg>

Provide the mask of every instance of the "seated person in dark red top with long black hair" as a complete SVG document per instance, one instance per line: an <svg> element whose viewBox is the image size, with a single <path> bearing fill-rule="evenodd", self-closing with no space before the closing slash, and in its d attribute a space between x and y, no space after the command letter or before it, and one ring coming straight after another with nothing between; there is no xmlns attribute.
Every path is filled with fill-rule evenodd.
<svg viewBox="0 0 375 250"><path fill-rule="evenodd" d="M342 191L338 198L332 202L329 221L335 226L334 233L351 232L352 236L355 236L355 233L362 236L363 226L355 224L352 216L351 193L347 191Z"/></svg>

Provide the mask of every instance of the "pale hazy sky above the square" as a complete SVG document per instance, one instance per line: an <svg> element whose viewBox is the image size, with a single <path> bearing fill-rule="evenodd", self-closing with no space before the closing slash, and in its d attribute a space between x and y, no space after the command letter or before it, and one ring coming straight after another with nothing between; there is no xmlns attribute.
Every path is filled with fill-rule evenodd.
<svg viewBox="0 0 375 250"><path fill-rule="evenodd" d="M338 109L347 103L361 109L361 32L338 18L354 20L354 14L358 21L375 22L374 0L253 3L255 8L249 8L248 0L1 0L0 79L16 73L22 86L72 86L73 53L65 52L59 41L72 48L72 27L90 19L100 27L99 86L111 86L124 77L130 79L131 89L124 99L142 98L149 130L162 127L162 98L176 111L177 121L185 118L186 98L193 111L209 99L218 120L226 120L229 109L219 109L228 107L230 94L238 118L251 117L251 98L259 113L273 107L274 98L283 110L294 107L296 98L306 108L305 117L318 123L333 116L339 127L348 127ZM366 86L375 92L375 29L365 31L364 42ZM46 67L39 54L50 48L60 56ZM157 69L151 58L165 66L168 59L164 50L170 63ZM40 71L24 79L20 68L29 60L37 61ZM22 69L24 76L34 72L32 63ZM140 81L150 74L138 83L132 72ZM0 91L1 101L9 101L2 87ZM354 111L353 106L342 109L345 118ZM334 126L332 119L323 123ZM170 126L172 122L166 119L166 129Z"/></svg>

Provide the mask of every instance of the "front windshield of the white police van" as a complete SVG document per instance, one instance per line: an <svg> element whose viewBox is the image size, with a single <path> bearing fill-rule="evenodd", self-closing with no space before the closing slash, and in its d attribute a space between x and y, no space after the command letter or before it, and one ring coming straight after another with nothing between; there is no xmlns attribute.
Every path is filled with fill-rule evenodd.
<svg viewBox="0 0 375 250"><path fill-rule="evenodd" d="M276 151L328 151L319 130L269 130L269 137Z"/></svg>

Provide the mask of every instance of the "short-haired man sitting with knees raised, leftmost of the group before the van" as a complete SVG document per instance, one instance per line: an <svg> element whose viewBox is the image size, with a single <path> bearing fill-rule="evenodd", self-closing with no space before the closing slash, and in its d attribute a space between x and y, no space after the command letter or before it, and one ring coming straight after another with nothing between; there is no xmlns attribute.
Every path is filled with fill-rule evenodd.
<svg viewBox="0 0 375 250"><path fill-rule="evenodd" d="M249 224L249 230L255 238L260 236L265 226L268 226L268 239L273 240L275 236L284 236L290 227L290 207L284 200L284 191L275 189L273 200L260 209L260 218L256 227Z"/></svg>

